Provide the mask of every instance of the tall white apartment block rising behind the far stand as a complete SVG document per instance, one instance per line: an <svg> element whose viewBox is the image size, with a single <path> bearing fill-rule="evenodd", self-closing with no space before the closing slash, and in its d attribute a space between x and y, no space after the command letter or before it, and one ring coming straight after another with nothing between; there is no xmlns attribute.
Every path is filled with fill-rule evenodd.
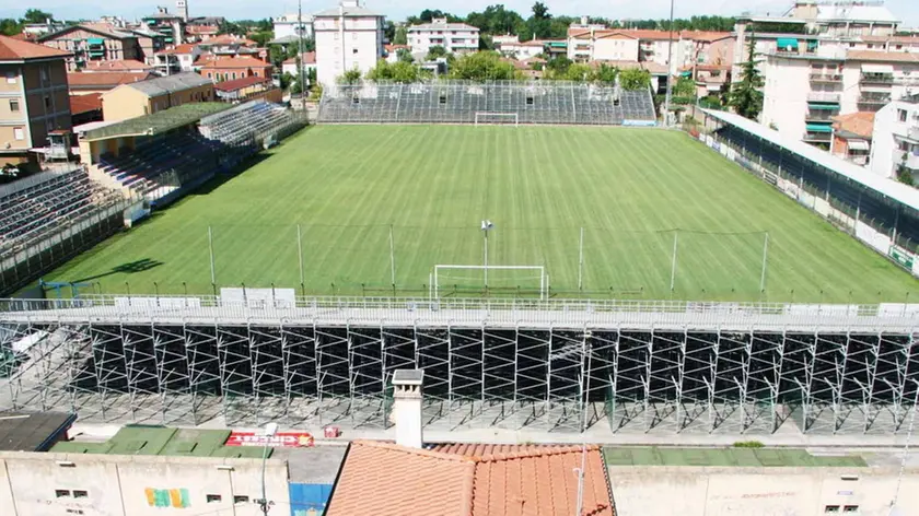
<svg viewBox="0 0 919 516"><path fill-rule="evenodd" d="M322 84L334 84L349 70L367 73L383 57L384 16L359 0L341 0L337 8L316 13L316 73Z"/></svg>

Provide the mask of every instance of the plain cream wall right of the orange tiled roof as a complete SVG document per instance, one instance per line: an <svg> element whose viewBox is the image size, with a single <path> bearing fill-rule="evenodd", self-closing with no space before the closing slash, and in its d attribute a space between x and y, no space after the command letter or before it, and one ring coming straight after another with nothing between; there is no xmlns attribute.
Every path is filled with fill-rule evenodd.
<svg viewBox="0 0 919 516"><path fill-rule="evenodd" d="M609 467L621 516L887 516L896 468ZM857 480L844 480L844 476ZM848 478L848 477L846 477ZM907 470L901 514L919 514L919 471ZM846 507L856 507L847 513Z"/></svg>

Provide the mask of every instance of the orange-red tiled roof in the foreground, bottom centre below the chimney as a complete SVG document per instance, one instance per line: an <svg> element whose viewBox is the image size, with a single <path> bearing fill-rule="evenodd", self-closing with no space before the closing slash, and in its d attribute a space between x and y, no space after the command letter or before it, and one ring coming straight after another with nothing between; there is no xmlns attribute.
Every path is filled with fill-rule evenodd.
<svg viewBox="0 0 919 516"><path fill-rule="evenodd" d="M351 443L326 516L574 513L578 479L572 470L581 467L580 446L458 446L455 450ZM597 446L588 447L582 514L613 516Z"/></svg>

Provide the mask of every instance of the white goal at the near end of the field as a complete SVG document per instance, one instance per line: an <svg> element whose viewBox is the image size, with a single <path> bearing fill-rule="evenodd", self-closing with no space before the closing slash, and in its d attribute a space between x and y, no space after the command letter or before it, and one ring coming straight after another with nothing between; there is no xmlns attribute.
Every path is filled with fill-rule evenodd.
<svg viewBox="0 0 919 516"><path fill-rule="evenodd" d="M534 291L538 289L539 298L545 300L548 297L549 275L544 266L434 266L431 273L431 297L440 298L443 288L449 285L485 290L526 286Z"/></svg>

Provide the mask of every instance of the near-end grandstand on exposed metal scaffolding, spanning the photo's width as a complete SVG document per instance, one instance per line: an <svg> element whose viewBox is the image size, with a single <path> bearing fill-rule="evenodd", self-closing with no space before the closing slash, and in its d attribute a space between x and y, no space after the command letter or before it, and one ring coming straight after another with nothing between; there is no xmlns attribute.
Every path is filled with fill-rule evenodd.
<svg viewBox="0 0 919 516"><path fill-rule="evenodd" d="M95 297L0 309L0 407L88 421L905 432L919 305Z"/></svg>

